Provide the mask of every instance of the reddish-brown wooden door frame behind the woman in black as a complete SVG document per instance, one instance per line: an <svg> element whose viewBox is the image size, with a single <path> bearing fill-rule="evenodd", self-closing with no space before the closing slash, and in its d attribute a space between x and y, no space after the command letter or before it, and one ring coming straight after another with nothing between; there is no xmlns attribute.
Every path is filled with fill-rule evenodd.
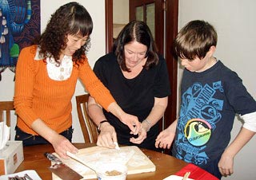
<svg viewBox="0 0 256 180"><path fill-rule="evenodd" d="M174 38L178 33L178 0L166 0L166 48L165 59L169 72L171 95L165 112L163 128L168 127L177 118L177 78L178 61L173 53ZM106 53L110 53L113 46L113 0L105 0L106 23Z"/></svg>

